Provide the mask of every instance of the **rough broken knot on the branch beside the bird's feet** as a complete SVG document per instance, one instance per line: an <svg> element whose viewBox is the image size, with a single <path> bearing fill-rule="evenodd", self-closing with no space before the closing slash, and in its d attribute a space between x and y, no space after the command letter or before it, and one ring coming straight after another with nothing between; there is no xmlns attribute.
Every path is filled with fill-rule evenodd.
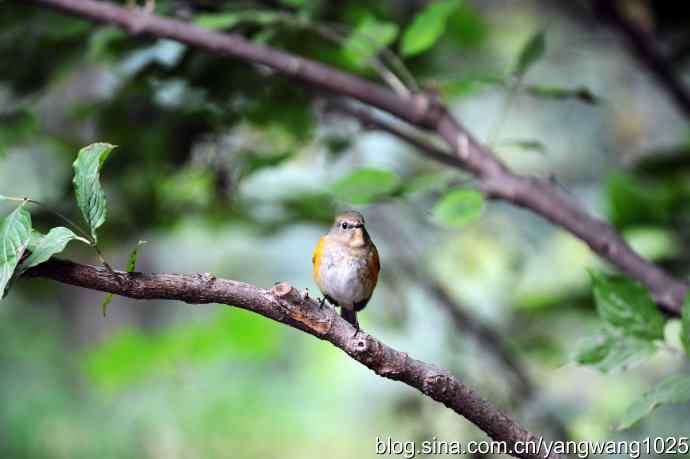
<svg viewBox="0 0 690 459"><path fill-rule="evenodd" d="M308 292L302 294L287 282L280 282L273 286L271 293L291 319L316 335L325 336L331 330L333 314L327 314L327 310L311 299Z"/></svg>

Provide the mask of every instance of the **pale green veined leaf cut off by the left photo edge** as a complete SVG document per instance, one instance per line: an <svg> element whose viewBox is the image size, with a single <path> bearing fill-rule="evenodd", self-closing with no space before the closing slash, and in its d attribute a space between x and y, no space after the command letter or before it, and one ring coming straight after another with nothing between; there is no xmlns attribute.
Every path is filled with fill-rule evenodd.
<svg viewBox="0 0 690 459"><path fill-rule="evenodd" d="M22 203L0 224L0 299L31 241L31 214Z"/></svg>

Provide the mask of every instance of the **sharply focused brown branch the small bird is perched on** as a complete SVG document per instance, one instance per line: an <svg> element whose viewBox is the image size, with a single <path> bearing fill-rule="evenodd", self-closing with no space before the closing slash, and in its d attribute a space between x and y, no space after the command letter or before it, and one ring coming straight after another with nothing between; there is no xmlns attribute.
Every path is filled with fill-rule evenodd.
<svg viewBox="0 0 690 459"><path fill-rule="evenodd" d="M368 333L355 335L352 326L333 308L294 287L280 283L266 290L212 274L144 274L109 272L105 268L52 259L25 276L44 277L65 284L136 299L179 300L190 304L220 303L261 314L328 341L377 375L401 381L443 403L509 448L516 442L538 440L448 371L409 357ZM524 443L523 443L524 444ZM541 455L514 454L524 458ZM550 457L556 458L556 455Z"/></svg>

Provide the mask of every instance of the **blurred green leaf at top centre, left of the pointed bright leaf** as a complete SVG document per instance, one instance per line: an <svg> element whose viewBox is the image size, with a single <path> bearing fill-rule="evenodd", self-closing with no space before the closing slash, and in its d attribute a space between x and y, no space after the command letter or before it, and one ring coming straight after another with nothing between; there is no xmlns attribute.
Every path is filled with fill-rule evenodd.
<svg viewBox="0 0 690 459"><path fill-rule="evenodd" d="M343 52L354 65L364 67L378 52L395 41L398 25L365 16L345 42Z"/></svg>

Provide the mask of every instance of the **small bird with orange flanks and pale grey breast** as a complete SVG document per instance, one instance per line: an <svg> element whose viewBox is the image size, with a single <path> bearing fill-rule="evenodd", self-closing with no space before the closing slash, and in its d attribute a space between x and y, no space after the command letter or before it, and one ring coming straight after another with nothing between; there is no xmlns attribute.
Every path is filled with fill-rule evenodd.
<svg viewBox="0 0 690 459"><path fill-rule="evenodd" d="M338 214L328 234L316 244L311 261L314 281L324 300L340 306L343 319L359 331L357 312L371 299L381 269L379 253L364 228L362 214Z"/></svg>

